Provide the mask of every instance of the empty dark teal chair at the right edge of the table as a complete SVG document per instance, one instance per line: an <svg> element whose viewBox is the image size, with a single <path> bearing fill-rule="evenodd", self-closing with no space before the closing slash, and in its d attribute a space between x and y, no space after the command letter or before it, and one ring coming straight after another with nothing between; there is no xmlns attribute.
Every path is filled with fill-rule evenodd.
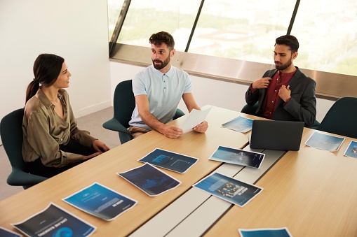
<svg viewBox="0 0 357 237"><path fill-rule="evenodd" d="M357 138L357 98L342 97L335 101L316 128L332 134Z"/></svg>

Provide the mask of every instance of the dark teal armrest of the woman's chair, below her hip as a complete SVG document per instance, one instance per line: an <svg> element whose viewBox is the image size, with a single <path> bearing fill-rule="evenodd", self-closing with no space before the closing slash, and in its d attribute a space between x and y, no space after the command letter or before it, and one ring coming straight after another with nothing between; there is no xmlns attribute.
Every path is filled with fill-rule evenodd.
<svg viewBox="0 0 357 237"><path fill-rule="evenodd" d="M31 186L44 180L47 180L47 178L32 173L26 173L19 168L13 168L6 181L8 182L8 185L12 186Z"/></svg>

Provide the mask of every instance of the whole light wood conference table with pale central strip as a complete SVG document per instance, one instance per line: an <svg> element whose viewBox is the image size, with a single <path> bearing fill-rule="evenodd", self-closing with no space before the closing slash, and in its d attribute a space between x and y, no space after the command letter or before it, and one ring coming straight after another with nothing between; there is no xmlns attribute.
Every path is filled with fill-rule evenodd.
<svg viewBox="0 0 357 237"><path fill-rule="evenodd" d="M203 108L209 108L205 106ZM344 157L351 141L338 152L304 145L313 129L304 128L298 152L251 150L250 132L222 127L234 118L248 117L213 106L206 117L205 134L194 131L166 138L150 131L53 178L0 201L0 227L27 219L49 203L64 208L97 229L93 236L238 236L238 229L288 227L292 236L357 236L357 161ZM170 124L180 126L185 118ZM260 168L208 160L218 146L263 152ZM163 170L181 181L175 189L148 196L117 173L142 165L138 161L155 148L198 158L186 173ZM255 184L263 191L243 208L192 187L210 173L219 172ZM105 221L70 206L63 198L98 182L137 201L112 221Z"/></svg>

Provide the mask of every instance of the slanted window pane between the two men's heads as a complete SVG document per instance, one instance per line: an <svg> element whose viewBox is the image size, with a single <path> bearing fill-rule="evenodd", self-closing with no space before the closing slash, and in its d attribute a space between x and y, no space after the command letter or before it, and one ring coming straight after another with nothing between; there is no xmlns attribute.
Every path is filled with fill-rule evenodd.
<svg viewBox="0 0 357 237"><path fill-rule="evenodd" d="M283 0L206 0L188 52L271 64L294 7Z"/></svg>

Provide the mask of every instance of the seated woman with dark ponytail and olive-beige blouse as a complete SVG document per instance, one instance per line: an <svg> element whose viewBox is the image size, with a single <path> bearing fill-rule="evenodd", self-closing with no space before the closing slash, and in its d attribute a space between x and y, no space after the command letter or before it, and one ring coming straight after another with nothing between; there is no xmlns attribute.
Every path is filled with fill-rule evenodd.
<svg viewBox="0 0 357 237"><path fill-rule="evenodd" d="M88 131L77 128L65 89L65 59L43 54L34 62L34 80L26 92L22 155L29 173L52 177L109 150Z"/></svg>

